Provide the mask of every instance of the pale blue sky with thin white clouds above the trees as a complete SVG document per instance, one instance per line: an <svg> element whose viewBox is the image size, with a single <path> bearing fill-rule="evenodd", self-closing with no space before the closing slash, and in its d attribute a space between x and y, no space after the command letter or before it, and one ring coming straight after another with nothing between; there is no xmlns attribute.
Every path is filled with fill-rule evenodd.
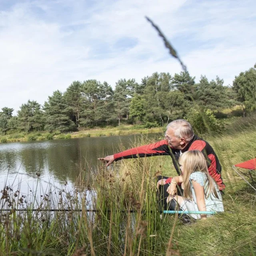
<svg viewBox="0 0 256 256"><path fill-rule="evenodd" d="M256 63L255 0L0 0L0 109L47 101L74 80L113 88L153 72L182 71L225 85Z"/></svg>

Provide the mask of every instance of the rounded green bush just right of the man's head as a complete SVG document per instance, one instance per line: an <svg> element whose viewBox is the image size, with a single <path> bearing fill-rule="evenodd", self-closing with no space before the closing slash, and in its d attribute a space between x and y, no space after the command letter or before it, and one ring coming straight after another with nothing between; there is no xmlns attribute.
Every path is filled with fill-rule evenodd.
<svg viewBox="0 0 256 256"><path fill-rule="evenodd" d="M224 128L221 122L216 119L214 113L209 109L206 111L198 111L192 108L188 112L186 119L191 123L197 134L219 133L223 131Z"/></svg>

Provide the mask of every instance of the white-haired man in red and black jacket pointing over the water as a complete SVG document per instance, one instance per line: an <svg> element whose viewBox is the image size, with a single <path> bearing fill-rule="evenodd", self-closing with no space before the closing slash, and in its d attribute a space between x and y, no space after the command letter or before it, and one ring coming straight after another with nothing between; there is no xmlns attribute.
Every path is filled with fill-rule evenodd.
<svg viewBox="0 0 256 256"><path fill-rule="evenodd" d="M178 119L170 122L166 127L166 133L164 136L165 140L131 148L123 152L98 159L106 162L106 166L109 166L112 162L120 159L169 155L172 158L172 162L177 173L180 175L180 168L178 165L180 155L188 150L200 150L207 160L209 174L218 184L220 191L225 189L225 184L221 178L221 165L218 157L208 142L194 134L193 128L188 121ZM158 181L158 186L169 184L171 180L172 178L161 176Z"/></svg>

